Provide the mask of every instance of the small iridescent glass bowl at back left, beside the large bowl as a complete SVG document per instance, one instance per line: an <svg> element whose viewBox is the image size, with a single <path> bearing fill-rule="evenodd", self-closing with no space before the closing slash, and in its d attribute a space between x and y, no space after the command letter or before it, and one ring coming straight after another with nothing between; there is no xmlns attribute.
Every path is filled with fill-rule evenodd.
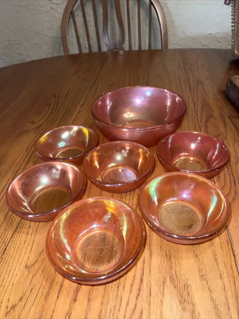
<svg viewBox="0 0 239 319"><path fill-rule="evenodd" d="M83 126L63 126L40 137L36 154L44 161L63 160L82 165L87 153L99 144L96 133Z"/></svg>

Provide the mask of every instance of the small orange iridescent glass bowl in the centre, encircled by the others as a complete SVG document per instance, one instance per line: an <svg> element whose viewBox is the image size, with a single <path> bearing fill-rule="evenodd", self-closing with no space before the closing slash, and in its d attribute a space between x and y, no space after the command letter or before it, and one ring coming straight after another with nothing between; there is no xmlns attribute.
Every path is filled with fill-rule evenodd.
<svg viewBox="0 0 239 319"><path fill-rule="evenodd" d="M142 145L118 141L89 152L83 167L90 181L100 189L125 193L147 180L155 168L155 160Z"/></svg>

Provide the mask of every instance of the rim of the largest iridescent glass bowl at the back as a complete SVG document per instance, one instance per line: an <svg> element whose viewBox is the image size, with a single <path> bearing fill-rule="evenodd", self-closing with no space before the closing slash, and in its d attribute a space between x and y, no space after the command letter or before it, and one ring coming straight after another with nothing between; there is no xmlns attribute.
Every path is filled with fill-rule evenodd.
<svg viewBox="0 0 239 319"><path fill-rule="evenodd" d="M153 127L149 127L149 128L124 128L124 127L120 127L120 126L117 126L117 125L113 125L113 124L110 124L110 123L107 123L105 121L102 121L100 118L98 118L98 116L96 116L94 114L94 111L93 111L93 108L94 108L94 105L100 100L102 99L105 95L109 95L113 92L117 92L117 91L121 91L121 90L125 90L125 89L131 89L131 88L149 88L149 89L158 89L160 91L164 91L164 92L169 92L169 93L173 93L175 94L176 96L178 96L184 103L184 110L183 112L178 116L176 117L173 121L170 121L170 122L167 122L165 124L161 124L161 125L157 125L157 126L153 126ZM162 89L162 88L159 88L159 87L156 87L156 86L143 86L143 85L138 85L138 86L126 86L126 87L122 87L122 88L119 88L119 89L116 89L116 90L112 90L110 92L106 92L104 94L102 94L101 96L99 96L92 104L91 106L91 114L92 114L92 117L94 120L100 122L101 124L104 124L106 126L109 126L109 127L112 127L116 130L121 130L121 131L131 131L131 132L134 132L134 131L142 131L142 132L147 132L147 131L151 131L151 130L155 130L155 129L158 129L158 128L163 128L163 127L166 127L166 126L169 126L170 124L176 122L177 120L181 119L182 117L184 117L185 113L186 113L186 110L187 110L187 104L185 102L185 100L176 92L174 91L170 91L170 90L167 90L167 89Z"/></svg>

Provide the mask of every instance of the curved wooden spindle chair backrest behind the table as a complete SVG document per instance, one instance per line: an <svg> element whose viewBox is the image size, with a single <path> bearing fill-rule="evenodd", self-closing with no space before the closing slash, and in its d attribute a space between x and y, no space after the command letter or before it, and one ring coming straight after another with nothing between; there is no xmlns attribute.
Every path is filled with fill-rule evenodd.
<svg viewBox="0 0 239 319"><path fill-rule="evenodd" d="M94 26L95 26L95 32L96 32L96 38L97 38L97 47L98 51L102 51L102 45L100 41L100 32L99 32L99 25L98 25L98 16L97 16L97 7L95 0L88 0L88 2L91 2L92 9L93 9L93 15L94 15ZM114 1L114 0L110 0ZM108 51L113 50L123 50L123 44L124 44L124 38L125 38L125 31L124 31L124 25L123 25L123 19L121 14L121 7L120 2L126 1L126 21L127 23L127 31L128 31L128 49L132 50L132 13L130 12L130 3L132 0L115 0L115 14L117 18L118 28L119 28L119 40L116 43L112 43L109 37L109 16L108 16L108 0L101 0L102 4L102 11L103 11L103 39L105 42L105 45L107 47ZM137 42L138 42L138 50L141 50L141 17L140 17L140 0L134 0L135 3L137 3L137 30L138 30L138 36L137 36ZM166 26L166 20L165 15L163 12L163 9L161 7L161 4L159 0L147 0L148 1L148 49L151 50L152 48L152 8L156 12L156 16L159 22L159 30L161 35L161 48L167 48L168 47L168 37L167 37L167 26ZM70 54L70 48L69 48L69 35L68 35L68 26L69 21L72 19L72 23L74 26L74 31L76 35L76 41L77 46L79 49L79 52L82 53L82 44L80 41L80 36L77 28L77 20L76 15L74 13L74 6L77 2L80 2L81 10L82 10L82 18L84 21L84 28L86 33L86 40L88 45L88 51L92 52L92 45L90 40L90 32L89 32L89 21L87 18L86 10L85 10L85 2L84 0L68 0L63 16L62 16L62 24L61 24L61 35L62 35L62 45L63 45L63 51L64 54ZM132 11L132 10L131 10ZM136 13L136 12L135 12Z"/></svg>

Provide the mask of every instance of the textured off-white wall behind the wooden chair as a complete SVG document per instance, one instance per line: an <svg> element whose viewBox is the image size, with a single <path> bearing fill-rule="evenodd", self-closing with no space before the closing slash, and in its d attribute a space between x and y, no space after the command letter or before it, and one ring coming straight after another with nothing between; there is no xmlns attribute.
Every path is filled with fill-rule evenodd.
<svg viewBox="0 0 239 319"><path fill-rule="evenodd" d="M99 1L97 0L101 25ZM113 4L114 1L109 0L109 2ZM125 4L125 0L120 2ZM169 47L230 48L231 7L225 6L223 2L223 0L161 0L168 26ZM0 66L63 54L60 25L65 3L66 0L0 0ZM135 10L136 23L135 0L130 0L130 3L131 10ZM89 8L87 7L87 10ZM122 11L125 11L123 6ZM113 29L114 37L117 31L113 12L112 8L109 11L112 14L110 28ZM141 14L145 21L142 26L143 32L147 34L145 5L142 6ZM83 22L80 14L77 20L81 29ZM94 24L90 25L90 32L94 36L93 26ZM76 45L72 34L70 32L74 53ZM154 46L156 48L159 39L155 30L153 35L157 40ZM145 40L144 45L146 42ZM83 48L86 51L87 46L84 43L85 39L83 39ZM93 42L93 48L97 49L96 41Z"/></svg>

